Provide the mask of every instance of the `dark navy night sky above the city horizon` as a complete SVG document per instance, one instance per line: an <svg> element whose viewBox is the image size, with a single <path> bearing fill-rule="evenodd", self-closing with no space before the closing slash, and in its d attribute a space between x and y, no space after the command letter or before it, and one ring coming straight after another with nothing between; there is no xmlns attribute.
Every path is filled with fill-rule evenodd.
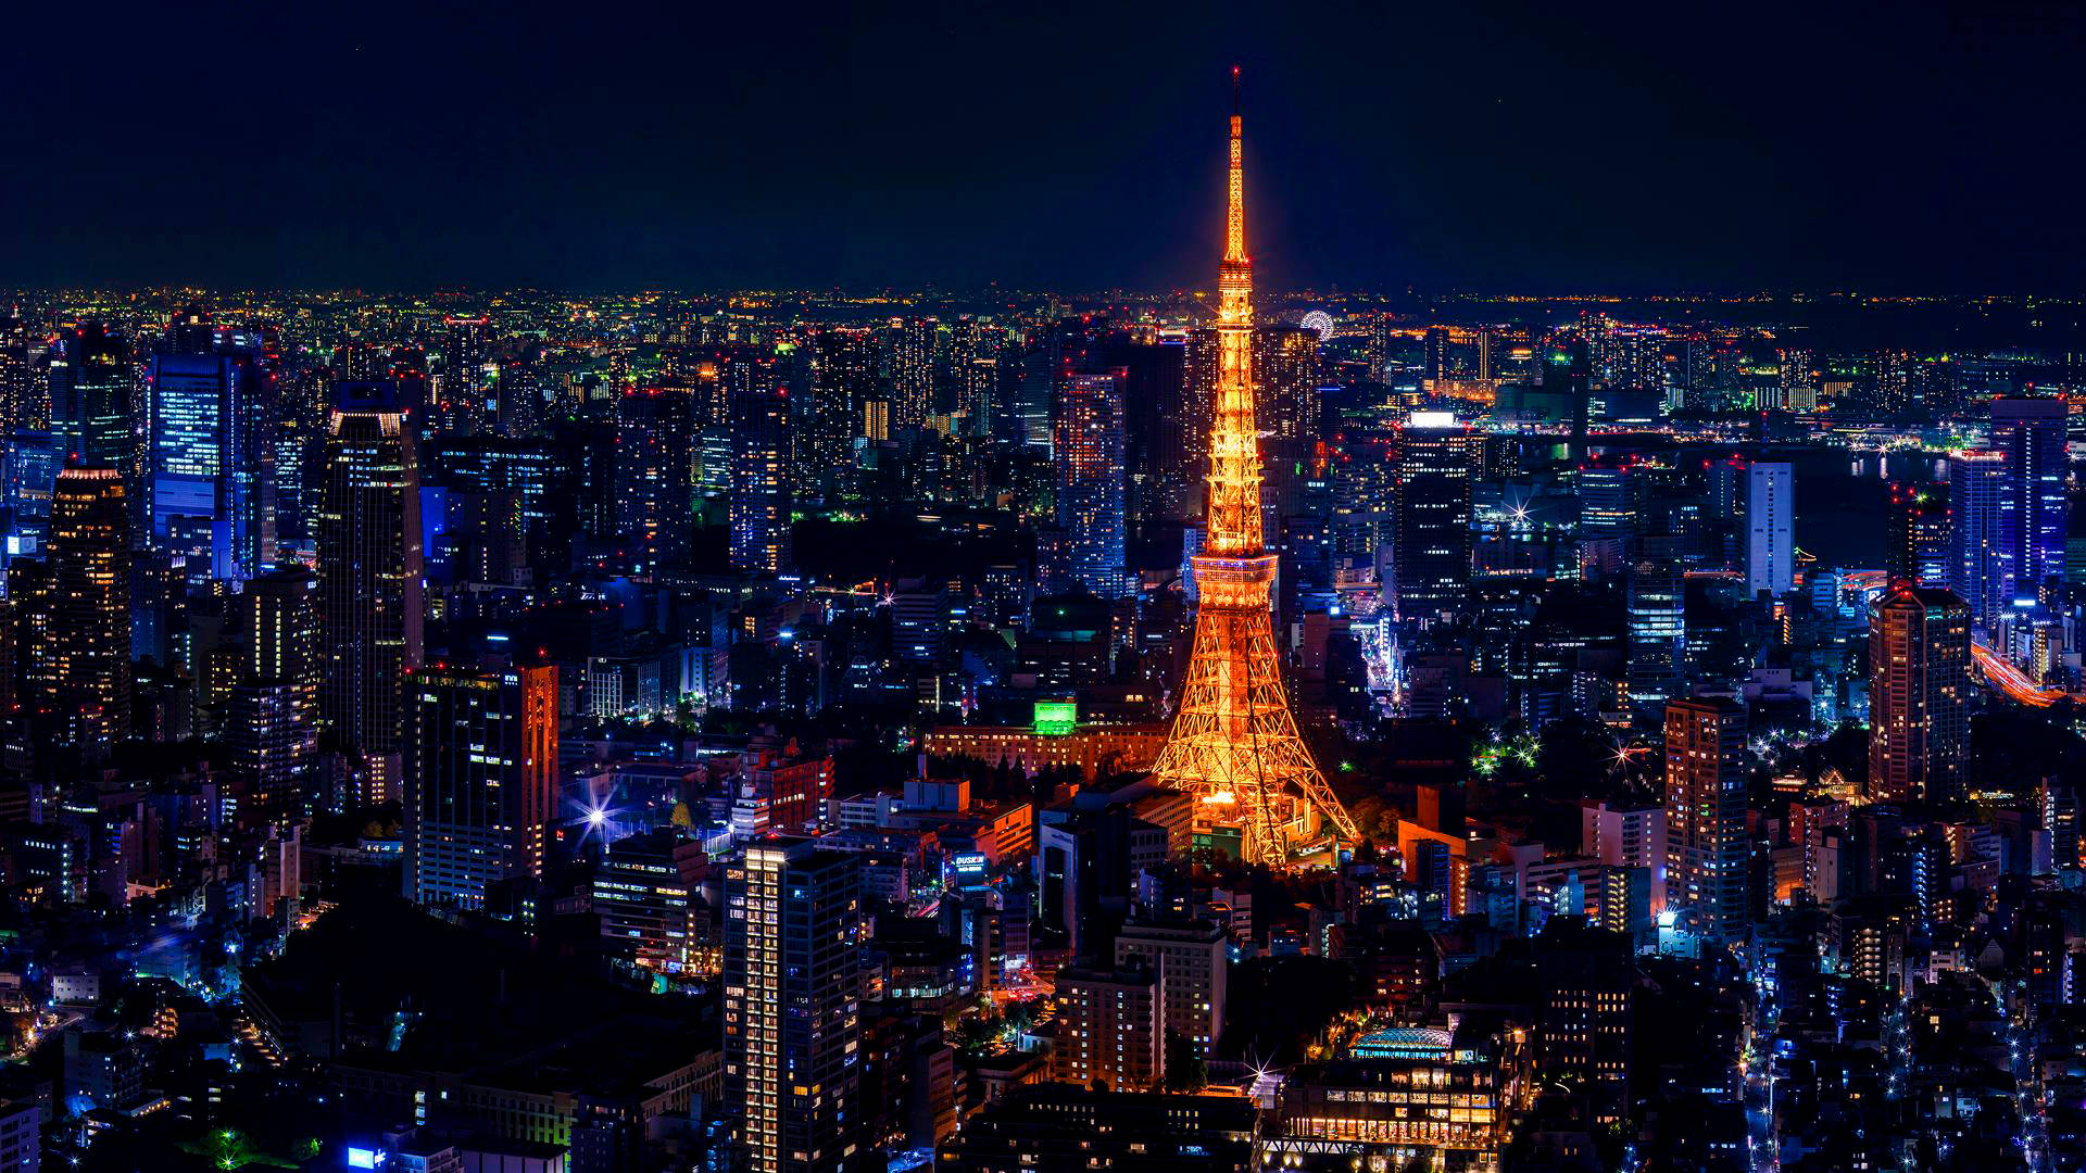
<svg viewBox="0 0 2086 1173"><path fill-rule="evenodd" d="M2086 286L2061 4L1471 8L67 8L0 284Z"/></svg>

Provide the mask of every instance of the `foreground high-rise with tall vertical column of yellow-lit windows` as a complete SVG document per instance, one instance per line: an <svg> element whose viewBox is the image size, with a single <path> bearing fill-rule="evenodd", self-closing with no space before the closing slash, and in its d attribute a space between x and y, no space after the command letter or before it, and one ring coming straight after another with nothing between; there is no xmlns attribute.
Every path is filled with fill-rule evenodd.
<svg viewBox="0 0 2086 1173"><path fill-rule="evenodd" d="M862 856L757 841L726 868L724 906L724 1096L743 1115L749 1169L851 1169Z"/></svg>

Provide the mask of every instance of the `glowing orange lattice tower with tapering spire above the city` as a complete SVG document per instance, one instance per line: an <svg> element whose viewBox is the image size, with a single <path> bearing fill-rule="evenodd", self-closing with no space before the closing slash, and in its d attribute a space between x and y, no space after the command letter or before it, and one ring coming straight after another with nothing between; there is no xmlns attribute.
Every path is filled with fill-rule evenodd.
<svg viewBox="0 0 2086 1173"><path fill-rule="evenodd" d="M1197 824L1237 827L1243 856L1289 866L1323 833L1354 841L1354 820L1297 735L1275 651L1275 555L1260 530L1260 428L1254 420L1254 263L1245 257L1245 163L1231 71L1231 215L1216 269L1216 405L1210 522L1193 559L1195 647L1181 712L1154 772L1195 795ZM1323 827L1320 827L1323 820Z"/></svg>

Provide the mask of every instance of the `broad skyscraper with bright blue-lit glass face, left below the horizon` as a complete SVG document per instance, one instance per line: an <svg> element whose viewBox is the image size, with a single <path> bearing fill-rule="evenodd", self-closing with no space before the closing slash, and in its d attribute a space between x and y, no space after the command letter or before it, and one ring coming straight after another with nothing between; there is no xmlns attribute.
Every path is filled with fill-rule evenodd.
<svg viewBox="0 0 2086 1173"><path fill-rule="evenodd" d="M159 549L179 549L211 578L252 578L265 561L263 476L273 463L261 372L238 355L152 355L146 397L146 524Z"/></svg>

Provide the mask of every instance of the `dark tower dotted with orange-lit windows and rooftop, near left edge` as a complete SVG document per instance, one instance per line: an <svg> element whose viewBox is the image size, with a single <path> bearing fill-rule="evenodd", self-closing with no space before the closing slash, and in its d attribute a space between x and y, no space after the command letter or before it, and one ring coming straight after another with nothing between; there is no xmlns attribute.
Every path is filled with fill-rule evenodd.
<svg viewBox="0 0 2086 1173"><path fill-rule="evenodd" d="M50 497L52 735L60 747L98 753L131 724L129 499L106 465L73 465Z"/></svg>

